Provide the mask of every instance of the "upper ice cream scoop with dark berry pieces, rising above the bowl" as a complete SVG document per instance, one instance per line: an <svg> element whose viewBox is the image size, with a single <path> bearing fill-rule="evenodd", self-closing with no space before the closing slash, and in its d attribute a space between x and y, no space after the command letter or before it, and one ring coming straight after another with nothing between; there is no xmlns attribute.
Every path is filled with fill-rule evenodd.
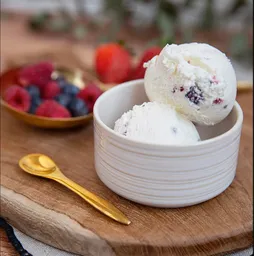
<svg viewBox="0 0 254 256"><path fill-rule="evenodd" d="M190 121L214 125L233 108L234 69L224 53L208 44L166 45L144 66L149 100L174 106Z"/></svg>

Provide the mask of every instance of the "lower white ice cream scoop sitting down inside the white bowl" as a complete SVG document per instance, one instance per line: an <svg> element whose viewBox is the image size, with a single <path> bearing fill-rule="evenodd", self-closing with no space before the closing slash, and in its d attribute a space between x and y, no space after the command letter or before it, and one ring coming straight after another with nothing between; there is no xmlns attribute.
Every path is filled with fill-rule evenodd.
<svg viewBox="0 0 254 256"><path fill-rule="evenodd" d="M136 105L116 122L115 132L155 144L193 144L200 140L196 127L168 104L147 102Z"/></svg>

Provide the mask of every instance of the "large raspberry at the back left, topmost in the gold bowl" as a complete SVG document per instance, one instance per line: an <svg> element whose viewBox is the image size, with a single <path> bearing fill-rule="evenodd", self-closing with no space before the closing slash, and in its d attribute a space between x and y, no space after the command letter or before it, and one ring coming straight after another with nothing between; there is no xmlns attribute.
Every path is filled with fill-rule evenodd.
<svg viewBox="0 0 254 256"><path fill-rule="evenodd" d="M54 70L50 62L40 62L35 65L29 65L20 70L18 73L18 82L23 86L34 84L40 88L51 80L51 74Z"/></svg>

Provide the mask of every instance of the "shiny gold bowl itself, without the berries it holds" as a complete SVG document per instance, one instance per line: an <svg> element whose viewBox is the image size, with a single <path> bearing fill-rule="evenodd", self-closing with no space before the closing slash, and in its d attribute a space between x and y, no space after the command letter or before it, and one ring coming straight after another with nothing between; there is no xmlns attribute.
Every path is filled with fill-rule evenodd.
<svg viewBox="0 0 254 256"><path fill-rule="evenodd" d="M16 77L17 73L21 67L15 67L12 69L7 70L6 72L1 74L1 106L7 110L10 114L12 114L15 118L41 128L49 128L49 129L64 129L70 127L77 127L81 125L85 125L89 123L93 119L93 114L87 114L85 116L80 117L71 117L71 118L47 118L47 117L40 117L33 114L29 114L26 112L19 111L8 103L6 103L2 95L6 88L11 85L17 84ZM85 83L82 81L82 72L79 70L71 70L64 67L59 67L56 69L56 72L53 75L62 74L66 80L73 83L75 86L82 89L85 86Z"/></svg>

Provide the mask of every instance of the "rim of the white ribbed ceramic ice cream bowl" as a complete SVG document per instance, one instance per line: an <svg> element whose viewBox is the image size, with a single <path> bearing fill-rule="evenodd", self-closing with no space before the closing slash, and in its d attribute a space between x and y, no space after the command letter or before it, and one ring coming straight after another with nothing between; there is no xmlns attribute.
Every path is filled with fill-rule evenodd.
<svg viewBox="0 0 254 256"><path fill-rule="evenodd" d="M239 130L242 126L243 123L243 111L240 107L240 105L238 104L237 101L235 101L233 109L236 110L236 115L237 115L237 119L235 124L226 132L224 132L223 134L220 134L214 138L210 138L207 140L203 140L203 141L198 141L196 143L193 144L186 144L186 145L178 145L178 144L160 144L160 143L149 143L149 142L145 142L145 141L137 141L131 138L127 138L121 134L118 134L116 132L114 132L113 129L109 128L100 118L99 115L99 105L101 104L101 102L104 100L104 98L108 97L111 93L117 91L117 90L121 90L124 87L129 87L129 86L133 86L135 84L140 84L140 83L144 83L144 79L137 79L137 80L132 80L132 81L128 81L128 82L124 82L121 83L109 90L107 90L106 92L104 92L95 102L94 105L94 109L93 109L93 116L94 116L94 121L96 121L104 130L106 130L109 134L111 134L113 137L118 138L120 141L125 141L129 144L132 145L137 145L137 146L143 146L146 148L150 148L150 147L156 147L156 148L161 148L161 149L183 149L183 148L197 148L200 146L205 146L205 145L209 145L211 143L215 143L215 142L219 142L222 139L225 139L227 137L230 137L232 134L235 134L237 130ZM232 109L232 110L233 110ZM232 112L231 110L231 112ZM231 113L230 112L230 113Z"/></svg>

